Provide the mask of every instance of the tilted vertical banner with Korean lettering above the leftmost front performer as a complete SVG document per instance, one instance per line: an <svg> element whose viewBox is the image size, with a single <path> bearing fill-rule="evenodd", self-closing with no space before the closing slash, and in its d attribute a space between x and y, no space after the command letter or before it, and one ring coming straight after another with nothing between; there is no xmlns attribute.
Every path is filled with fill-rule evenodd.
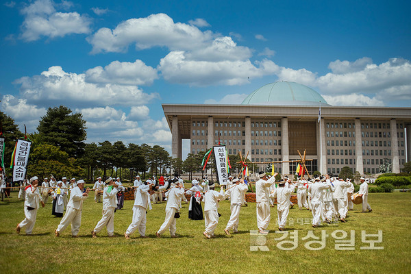
<svg viewBox="0 0 411 274"><path fill-rule="evenodd" d="M32 142L18 139L16 142L16 151L14 152L13 182L23 181L29 160L30 146Z"/></svg>

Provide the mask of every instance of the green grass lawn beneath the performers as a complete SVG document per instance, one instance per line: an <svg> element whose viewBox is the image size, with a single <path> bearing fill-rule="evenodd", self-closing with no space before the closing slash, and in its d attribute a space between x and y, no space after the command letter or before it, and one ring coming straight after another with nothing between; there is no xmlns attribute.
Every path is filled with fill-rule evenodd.
<svg viewBox="0 0 411 274"><path fill-rule="evenodd" d="M17 235L15 227L23 221L23 201L12 192L10 201L0 202L0 273L411 273L411 193L371 193L371 213L360 213L360 206L349 211L347 223L323 225L314 235L325 231L325 248L312 251L302 240L310 224L298 220L310 219L311 212L290 210L288 218L295 222L287 225L288 232L297 231L297 248L284 251L277 248L278 234L275 220L277 208L271 208L270 233L266 236L269 251L250 251L250 230L256 229L256 204L249 203L240 213L240 232L225 236L223 229L229 219L229 201L220 203L222 214L216 229L216 238L203 235L204 222L188 219L188 205L177 219L179 238L170 238L166 232L155 238L155 232L164 221L166 203L153 205L147 214L147 236L125 240L123 234L132 221L133 201L125 201L125 208L115 214L114 227L118 238L108 238L103 230L99 238L91 238L91 230L101 218L101 203L90 197L84 204L79 238L71 238L70 227L60 238L54 229L60 218L51 215L51 200L38 210L32 236L24 229ZM355 231L355 250L336 250L332 232ZM377 234L382 230L382 242L376 247L383 250L362 250L361 232ZM339 234L338 234L339 236ZM254 238L255 239L255 238ZM290 240L290 236L286 238ZM314 240L314 239L310 239ZM317 245L318 246L318 245ZM316 246L316 247L317 247Z"/></svg>

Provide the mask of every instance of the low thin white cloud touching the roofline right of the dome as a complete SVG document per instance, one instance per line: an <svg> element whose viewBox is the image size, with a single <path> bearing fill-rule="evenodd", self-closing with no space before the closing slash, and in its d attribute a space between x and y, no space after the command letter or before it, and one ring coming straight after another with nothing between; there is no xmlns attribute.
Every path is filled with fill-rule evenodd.
<svg viewBox="0 0 411 274"><path fill-rule="evenodd" d="M361 94L350 94L350 95L323 95L325 101L330 105L340 106L340 105L349 105L349 106L378 106L384 105L384 102L376 99L375 97L371 98Z"/></svg>

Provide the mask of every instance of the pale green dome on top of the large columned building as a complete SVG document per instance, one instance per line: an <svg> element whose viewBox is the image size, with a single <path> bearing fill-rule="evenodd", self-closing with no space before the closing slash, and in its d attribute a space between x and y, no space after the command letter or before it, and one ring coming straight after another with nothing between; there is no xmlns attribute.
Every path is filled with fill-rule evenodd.
<svg viewBox="0 0 411 274"><path fill-rule="evenodd" d="M318 92L295 82L266 84L247 96L242 105L329 105Z"/></svg>

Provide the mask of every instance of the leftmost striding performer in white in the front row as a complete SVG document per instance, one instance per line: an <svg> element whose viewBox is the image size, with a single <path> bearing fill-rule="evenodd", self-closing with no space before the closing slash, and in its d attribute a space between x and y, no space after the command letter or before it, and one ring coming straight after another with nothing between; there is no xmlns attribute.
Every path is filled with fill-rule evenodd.
<svg viewBox="0 0 411 274"><path fill-rule="evenodd" d="M38 191L38 177L34 176L30 178L30 185L26 186L25 188L25 201L24 201L24 214L25 219L18 223L16 227L17 234L20 233L20 230L23 227L25 228L25 232L27 235L32 234L34 225L36 224L36 217L37 217L37 210L40 208L39 202L41 202L41 206L44 208L45 203L41 201L40 192Z"/></svg>

